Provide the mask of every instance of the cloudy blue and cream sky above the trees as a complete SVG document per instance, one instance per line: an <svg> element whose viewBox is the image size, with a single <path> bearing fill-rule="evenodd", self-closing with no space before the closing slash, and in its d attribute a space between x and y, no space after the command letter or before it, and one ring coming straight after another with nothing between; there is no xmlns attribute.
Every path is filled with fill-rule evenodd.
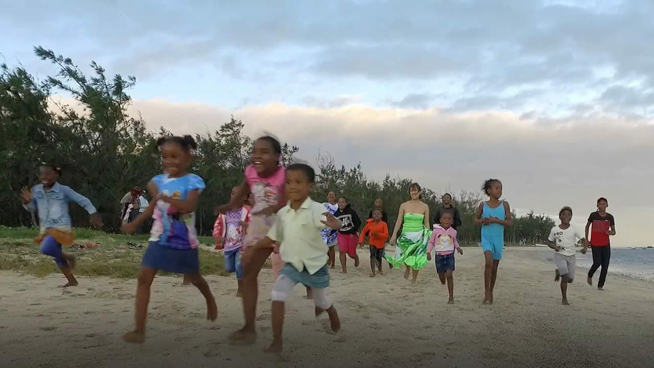
<svg viewBox="0 0 654 368"><path fill-rule="evenodd" d="M133 75L152 130L230 115L298 157L443 193L502 180L519 213L609 199L613 246L651 246L654 3L0 0L0 62L41 45ZM69 96L56 96L63 100ZM481 193L481 192L480 192Z"/></svg>

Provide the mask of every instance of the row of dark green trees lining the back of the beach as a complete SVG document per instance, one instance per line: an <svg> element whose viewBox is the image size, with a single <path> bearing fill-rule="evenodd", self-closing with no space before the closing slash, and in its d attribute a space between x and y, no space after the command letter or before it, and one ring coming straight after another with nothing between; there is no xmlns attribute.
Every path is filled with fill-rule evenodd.
<svg viewBox="0 0 654 368"><path fill-rule="evenodd" d="M20 66L11 69L0 65L0 179L5 186L0 191L0 200L5 204L0 224L36 225L35 218L22 208L18 191L37 183L39 162L48 161L63 169L63 184L94 202L105 221L105 230L116 231L120 227L120 198L134 185L145 188L148 180L161 172L156 138L170 136L171 132L161 128L154 134L146 129L141 117L128 116L131 98L126 91L135 85L134 77L115 75L109 79L105 69L95 62L90 64L92 77L86 77L69 58L40 46L34 51L58 69L56 75L39 82ZM82 110L56 103L51 99L53 91L73 96ZM253 143L243 134L243 128L243 122L232 117L217 130L195 136L198 149L190 170L207 184L196 211L201 234L211 232L214 206L226 203L232 187L243 181ZM292 162L298 150L284 144L283 164ZM375 198L382 198L392 229L400 204L409 199L411 179L387 175L378 182L366 177L361 164L338 167L330 155L319 155L317 163L315 200L323 200L328 191L335 191L346 196L365 219ZM439 197L423 188L431 217L441 206ZM463 221L460 241L473 244L480 233L473 216L483 199L462 191L454 200ZM86 213L77 206L71 209L74 225L86 226ZM551 226L553 221L548 217L530 213L516 219L515 226L506 232L507 240L542 242Z"/></svg>

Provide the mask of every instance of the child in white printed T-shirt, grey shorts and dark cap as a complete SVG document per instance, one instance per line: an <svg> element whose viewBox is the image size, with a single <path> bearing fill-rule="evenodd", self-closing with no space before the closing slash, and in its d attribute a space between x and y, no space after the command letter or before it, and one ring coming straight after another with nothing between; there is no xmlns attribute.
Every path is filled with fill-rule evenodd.
<svg viewBox="0 0 654 368"><path fill-rule="evenodd" d="M554 281L561 279L561 304L568 303L568 284L574 279L574 268L576 264L575 249L579 240L583 240L581 253L586 253L588 242L581 234L581 230L570 225L572 220L572 208L565 206L559 211L560 225L555 226L547 237L547 246L554 249L554 261L557 263Z"/></svg>

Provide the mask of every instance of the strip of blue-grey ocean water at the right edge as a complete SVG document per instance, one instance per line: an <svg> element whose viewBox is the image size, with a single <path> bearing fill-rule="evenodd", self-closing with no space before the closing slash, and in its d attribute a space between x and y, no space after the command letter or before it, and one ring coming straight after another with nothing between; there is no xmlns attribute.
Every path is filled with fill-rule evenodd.
<svg viewBox="0 0 654 368"><path fill-rule="evenodd" d="M586 254L577 251L577 265L585 268L593 265L591 249ZM599 272L598 269L594 278L599 276ZM611 272L654 281L654 248L611 248L609 274Z"/></svg>

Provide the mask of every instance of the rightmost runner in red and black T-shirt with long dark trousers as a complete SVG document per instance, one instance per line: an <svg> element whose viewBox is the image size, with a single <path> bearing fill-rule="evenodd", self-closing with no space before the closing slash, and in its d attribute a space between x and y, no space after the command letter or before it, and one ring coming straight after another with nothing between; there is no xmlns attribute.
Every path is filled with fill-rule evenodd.
<svg viewBox="0 0 654 368"><path fill-rule="evenodd" d="M593 266L588 271L586 282L593 285L593 275L600 266L600 280L597 282L597 289L604 290L606 282L606 273L609 270L609 261L611 261L611 241L609 236L615 235L615 219L611 213L606 212L609 206L608 200L601 197L597 200L597 211L592 212L586 223L586 238L588 231L591 230L591 252L593 253ZM592 229L591 229L592 227Z"/></svg>

